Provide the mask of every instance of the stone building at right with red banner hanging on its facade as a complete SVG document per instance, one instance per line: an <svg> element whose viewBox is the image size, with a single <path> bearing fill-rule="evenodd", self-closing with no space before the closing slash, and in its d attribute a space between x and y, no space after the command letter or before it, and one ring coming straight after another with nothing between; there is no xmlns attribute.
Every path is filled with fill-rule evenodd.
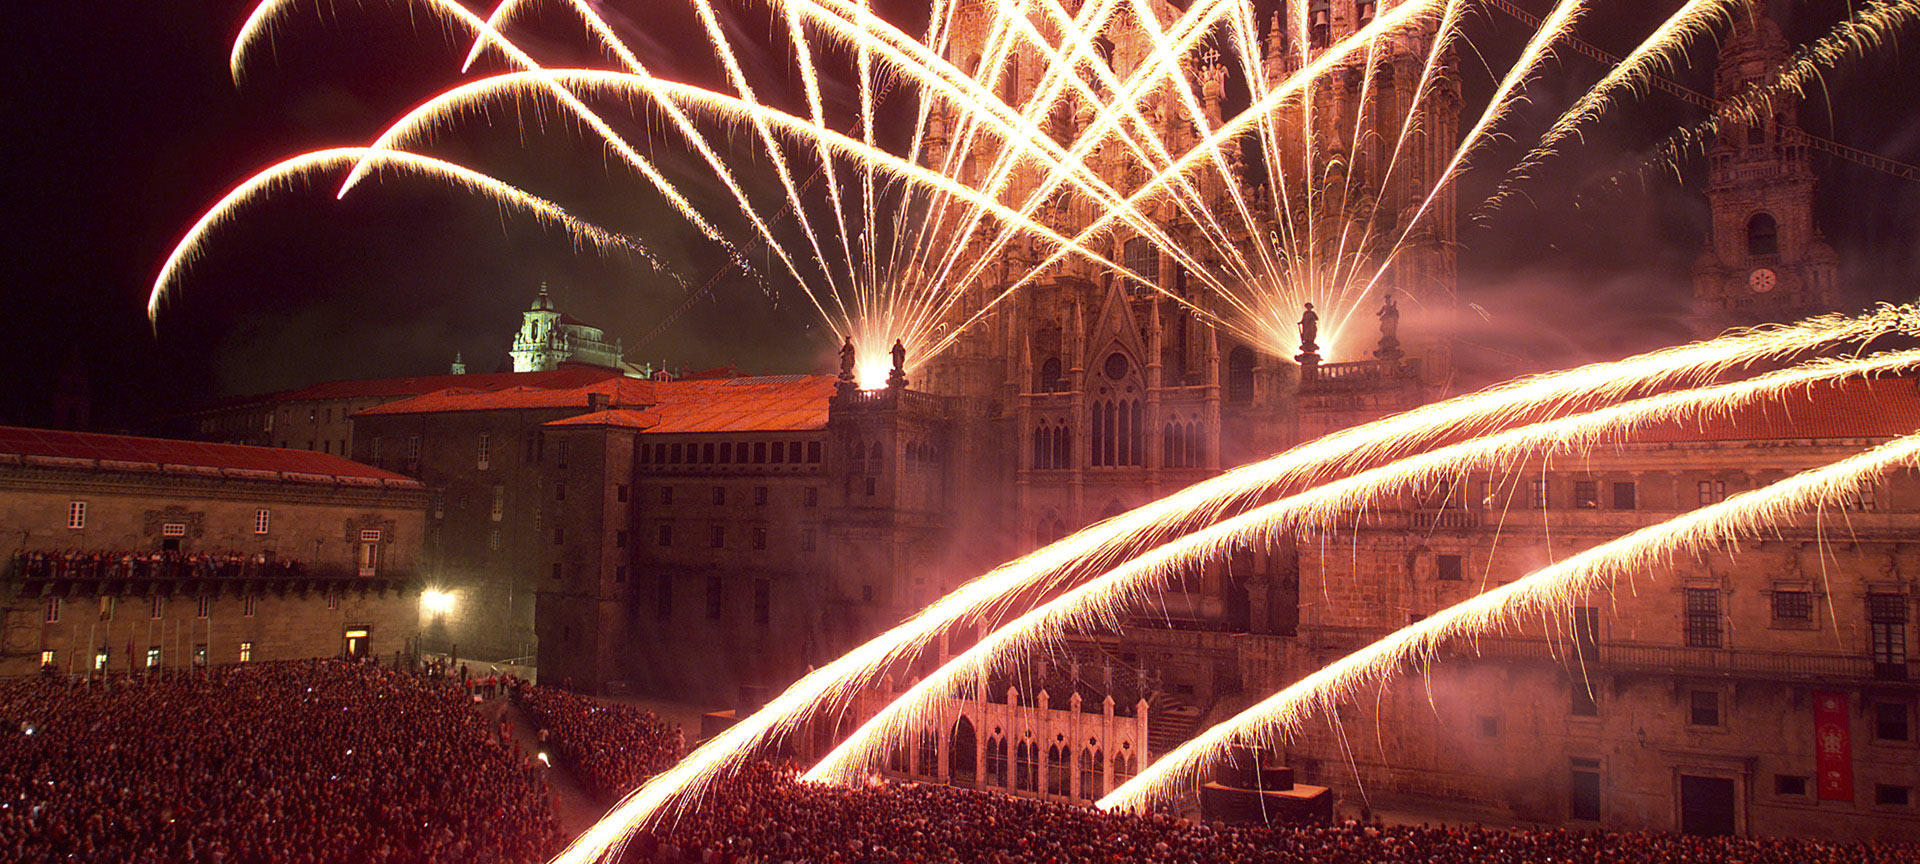
<svg viewBox="0 0 1920 864"><path fill-rule="evenodd" d="M1302 545L1302 593L1319 603L1265 649L1283 662L1248 697L1574 551L1916 428L1914 378L1855 380L1409 495L1354 538ZM1402 670L1342 703L1344 732L1309 722L1290 762L1388 808L1916 839L1914 536L1920 476L1903 470Z"/></svg>

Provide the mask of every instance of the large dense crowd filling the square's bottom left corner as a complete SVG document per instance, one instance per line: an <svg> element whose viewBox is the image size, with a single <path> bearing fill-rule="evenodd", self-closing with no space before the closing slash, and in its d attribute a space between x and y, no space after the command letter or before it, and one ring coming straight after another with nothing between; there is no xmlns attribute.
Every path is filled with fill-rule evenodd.
<svg viewBox="0 0 1920 864"><path fill-rule="evenodd" d="M530 862L547 791L451 680L340 660L0 684L0 862Z"/></svg>

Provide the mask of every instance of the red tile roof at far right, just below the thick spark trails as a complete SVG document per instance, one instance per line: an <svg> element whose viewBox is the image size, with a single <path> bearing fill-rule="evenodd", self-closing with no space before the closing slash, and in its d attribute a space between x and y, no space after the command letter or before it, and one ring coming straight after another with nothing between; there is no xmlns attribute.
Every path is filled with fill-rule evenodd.
<svg viewBox="0 0 1920 864"><path fill-rule="evenodd" d="M1920 432L1920 378L1884 376L1811 384L1697 420L1653 422L1632 442L1759 442L1793 438L1895 438Z"/></svg>

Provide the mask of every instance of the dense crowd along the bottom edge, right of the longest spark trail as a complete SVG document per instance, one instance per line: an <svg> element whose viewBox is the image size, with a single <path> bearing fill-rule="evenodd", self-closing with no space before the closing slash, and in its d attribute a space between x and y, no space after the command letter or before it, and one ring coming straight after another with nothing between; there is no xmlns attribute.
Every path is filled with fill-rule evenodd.
<svg viewBox="0 0 1920 864"><path fill-rule="evenodd" d="M1916 845L1446 826L1210 826L922 783L799 783L756 764L630 862L1908 864Z"/></svg>

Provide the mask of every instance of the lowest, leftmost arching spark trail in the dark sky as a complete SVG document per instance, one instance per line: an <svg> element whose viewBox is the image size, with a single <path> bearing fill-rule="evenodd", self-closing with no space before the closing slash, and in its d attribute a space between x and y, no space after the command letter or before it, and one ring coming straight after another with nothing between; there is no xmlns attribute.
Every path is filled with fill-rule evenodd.
<svg viewBox="0 0 1920 864"><path fill-rule="evenodd" d="M221 196L219 202L207 207L205 213L202 213L202 217L194 223L194 227L188 228L184 236L180 236L180 242L173 246L173 252L167 255L167 263L159 267L159 275L154 276L154 290L152 294L148 294L146 300L148 321L152 323L159 317L161 301L167 296L171 296L173 290L177 290L180 276L194 265L194 261L205 255L207 234L234 221L246 205L257 202L261 196L273 194L275 190L280 188L290 188L300 180L305 180L321 171L336 167L351 167L361 159L372 159L374 169L390 169L396 173L411 173L420 177L432 177L436 180L445 180L457 188L467 188L484 194L493 202L501 204L503 207L530 213L545 225L557 225L564 228L576 242L586 242L603 250L624 248L637 252L649 261L653 261L653 255L632 238L609 232L591 223L576 219L568 215L566 209L563 209L559 204L526 194L516 186L482 175L478 171L455 165L451 161L434 159L430 156L371 150L371 148L315 150L311 154L301 154L290 159L282 159L267 167L265 171L255 173L253 177L246 179L230 192ZM657 261L655 267L659 267Z"/></svg>

